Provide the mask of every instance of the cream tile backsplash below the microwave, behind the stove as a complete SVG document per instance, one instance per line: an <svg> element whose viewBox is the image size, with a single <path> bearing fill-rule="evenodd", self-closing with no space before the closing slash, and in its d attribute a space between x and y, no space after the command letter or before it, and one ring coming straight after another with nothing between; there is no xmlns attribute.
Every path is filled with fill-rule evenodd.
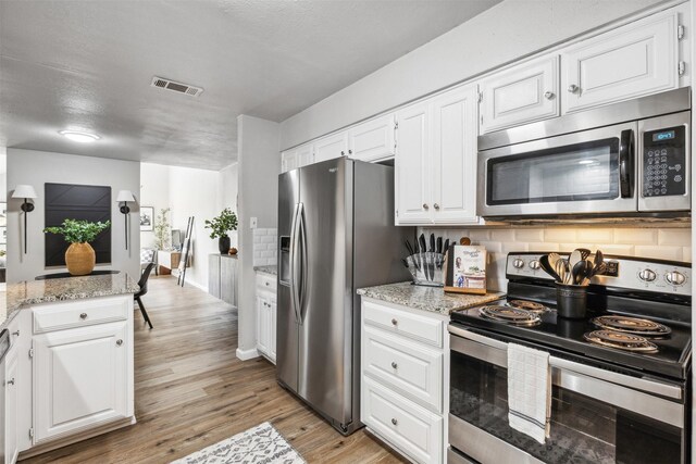
<svg viewBox="0 0 696 464"><path fill-rule="evenodd" d="M692 261L691 227L495 227L495 228L419 228L419 235L443 236L459 241L469 237L472 244L488 252L487 286L507 289L506 256L511 251L572 251L583 247L606 254Z"/></svg>

